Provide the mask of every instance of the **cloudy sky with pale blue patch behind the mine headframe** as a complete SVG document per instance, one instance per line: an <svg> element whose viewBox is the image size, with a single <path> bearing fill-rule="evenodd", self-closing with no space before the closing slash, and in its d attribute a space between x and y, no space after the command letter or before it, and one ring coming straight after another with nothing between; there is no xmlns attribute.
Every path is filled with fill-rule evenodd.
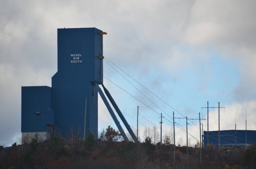
<svg viewBox="0 0 256 169"><path fill-rule="evenodd" d="M237 129L245 129L245 112L247 129L256 130L255 6L253 0L0 0L0 144L10 146L21 135L21 86L51 86L57 28L64 27L107 32L103 56L172 107L116 68L147 99L105 59L104 76L151 108L104 79L120 110L136 119L139 106L151 122L139 115L141 138L145 126L160 127L160 113L167 133L173 129L173 111L188 118L199 118L200 112L205 119L207 101L210 107L218 102L225 107L221 130L234 129L235 121ZM99 131L117 128L101 99L98 104ZM185 128L184 119L176 123ZM196 143L199 122L193 123L188 132ZM209 130L218 130L218 109L209 109ZM178 127L175 134L186 139Z"/></svg>

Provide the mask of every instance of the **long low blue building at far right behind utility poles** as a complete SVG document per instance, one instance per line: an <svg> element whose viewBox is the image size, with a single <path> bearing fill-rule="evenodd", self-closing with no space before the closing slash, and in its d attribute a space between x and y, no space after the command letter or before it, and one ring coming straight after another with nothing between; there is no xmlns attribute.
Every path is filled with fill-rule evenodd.
<svg viewBox="0 0 256 169"><path fill-rule="evenodd" d="M235 147L256 144L255 130L221 130L220 146ZM207 131L203 131L203 144L207 145ZM209 131L209 144L219 147L219 131Z"/></svg>

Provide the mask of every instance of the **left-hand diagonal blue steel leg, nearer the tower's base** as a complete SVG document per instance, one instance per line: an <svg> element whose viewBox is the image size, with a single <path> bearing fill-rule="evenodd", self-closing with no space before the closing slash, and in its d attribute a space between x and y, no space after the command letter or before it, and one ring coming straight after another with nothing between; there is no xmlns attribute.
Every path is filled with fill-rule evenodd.
<svg viewBox="0 0 256 169"><path fill-rule="evenodd" d="M100 89L99 85L98 85L96 82L95 82L95 85L96 85L97 90L98 90L98 92L99 92L99 95L100 95L100 97L102 98L103 102L105 103L105 105L106 105L106 107L107 107L107 109L108 109L108 111L109 111L111 117L113 118L114 122L116 123L119 132L122 134L123 139L124 139L124 140L128 140L128 138L127 138L125 132L123 131L123 128L121 127L119 121L117 120L117 117L116 117L114 111L111 109L111 107L110 107L110 105L109 105L109 103L108 103L108 100L107 100L107 98L105 97L104 93L102 92L102 90Z"/></svg>

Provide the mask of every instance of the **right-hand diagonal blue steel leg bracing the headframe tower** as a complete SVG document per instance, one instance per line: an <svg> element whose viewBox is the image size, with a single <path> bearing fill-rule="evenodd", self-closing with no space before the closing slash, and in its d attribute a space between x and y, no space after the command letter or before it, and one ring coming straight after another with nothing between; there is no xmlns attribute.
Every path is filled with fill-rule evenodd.
<svg viewBox="0 0 256 169"><path fill-rule="evenodd" d="M130 133L130 135L132 136L134 142L137 142L137 137L135 136L133 130L131 129L130 125L127 123L126 119L124 118L122 112L120 111L120 109L118 108L115 100L113 99L113 97L111 96L111 94L109 93L109 91L105 88L105 86L102 84L102 87L104 89L104 92L106 93L109 101L111 102L111 104L113 105L113 107L115 108L115 110L117 111L117 114L119 115L120 119L122 120L124 126L127 128L128 132Z"/></svg>

